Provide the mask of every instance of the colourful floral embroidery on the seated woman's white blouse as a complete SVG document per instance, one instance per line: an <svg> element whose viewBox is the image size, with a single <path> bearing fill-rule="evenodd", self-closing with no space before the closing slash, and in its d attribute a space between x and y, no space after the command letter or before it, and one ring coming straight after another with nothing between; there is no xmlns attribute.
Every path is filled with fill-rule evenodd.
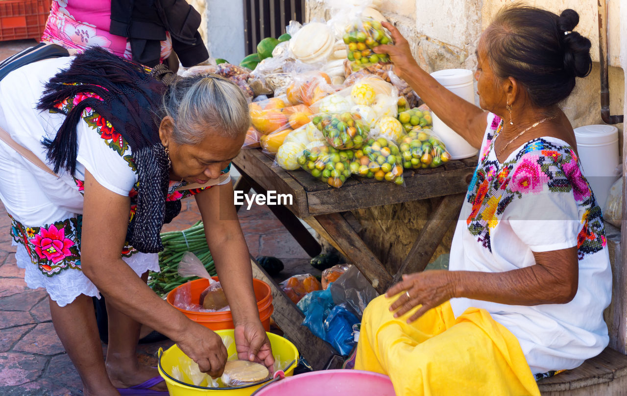
<svg viewBox="0 0 627 396"><path fill-rule="evenodd" d="M466 195L466 200L472 204L466 225L477 242L491 252L490 230L498 225L505 208L517 198L547 189L554 193L572 193L577 205L585 208L580 219L584 227L577 235L579 259L603 249L607 240L601 208L581 174L571 147L534 139L515 158L500 165L490 160L488 154L493 151L494 138L501 128L502 120L495 116Z"/></svg>

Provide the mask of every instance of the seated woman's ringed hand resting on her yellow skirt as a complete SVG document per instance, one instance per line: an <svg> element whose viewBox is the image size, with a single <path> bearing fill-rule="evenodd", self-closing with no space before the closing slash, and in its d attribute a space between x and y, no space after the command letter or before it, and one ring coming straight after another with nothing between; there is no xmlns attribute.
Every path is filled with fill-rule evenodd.
<svg viewBox="0 0 627 396"><path fill-rule="evenodd" d="M403 275L403 281L390 287L386 292L386 297L393 297L397 294L398 298L390 307L390 311L396 311L395 318L421 306L407 319L407 323L411 323L423 316L429 309L456 296L453 273L446 270L429 270Z"/></svg>

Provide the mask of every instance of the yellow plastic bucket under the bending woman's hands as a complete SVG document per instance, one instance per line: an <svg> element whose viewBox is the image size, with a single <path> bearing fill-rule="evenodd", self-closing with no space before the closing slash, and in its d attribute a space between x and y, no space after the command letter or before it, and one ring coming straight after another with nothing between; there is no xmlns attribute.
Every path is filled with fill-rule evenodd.
<svg viewBox="0 0 627 396"><path fill-rule="evenodd" d="M221 337L231 336L231 338L233 338L233 329L217 330L216 333ZM266 334L268 334L268 339L270 339L272 353L276 360L288 363L294 360L294 363L292 363L287 370L285 370L285 367L282 367L282 369L285 370L285 375L290 377L294 372L294 368L298 365L298 350L285 338L273 333ZM229 345L227 351L229 356L236 353L234 342ZM250 396L251 393L255 392L255 390L265 383L255 383L253 385L236 388L208 388L187 385L172 377L172 367L179 365L179 358L181 356L189 360L189 357L187 357L177 345L171 346L166 351L159 350L159 374L166 380L167 390L170 392L170 396Z"/></svg>

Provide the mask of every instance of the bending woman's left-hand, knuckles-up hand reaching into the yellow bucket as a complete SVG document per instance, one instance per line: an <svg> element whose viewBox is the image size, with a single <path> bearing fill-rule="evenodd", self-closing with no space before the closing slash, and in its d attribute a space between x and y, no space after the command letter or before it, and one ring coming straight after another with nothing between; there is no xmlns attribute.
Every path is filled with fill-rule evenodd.
<svg viewBox="0 0 627 396"><path fill-rule="evenodd" d="M201 372L208 373L212 378L222 375L228 354L218 334L201 324L189 321L189 326L176 344L198 364Z"/></svg>

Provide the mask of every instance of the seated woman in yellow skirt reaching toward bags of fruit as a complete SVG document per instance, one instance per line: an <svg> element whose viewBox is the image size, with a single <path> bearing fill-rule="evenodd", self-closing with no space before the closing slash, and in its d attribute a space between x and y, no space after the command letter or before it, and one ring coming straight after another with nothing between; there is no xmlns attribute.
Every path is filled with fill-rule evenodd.
<svg viewBox="0 0 627 396"><path fill-rule="evenodd" d="M386 24L395 44L376 51L481 147L450 271L403 276L364 313L355 367L389 375L397 395L539 395L536 377L608 345L601 209L559 108L591 70L590 41L572 31L578 21L570 9L500 11L477 50L485 111L421 70Z"/></svg>

